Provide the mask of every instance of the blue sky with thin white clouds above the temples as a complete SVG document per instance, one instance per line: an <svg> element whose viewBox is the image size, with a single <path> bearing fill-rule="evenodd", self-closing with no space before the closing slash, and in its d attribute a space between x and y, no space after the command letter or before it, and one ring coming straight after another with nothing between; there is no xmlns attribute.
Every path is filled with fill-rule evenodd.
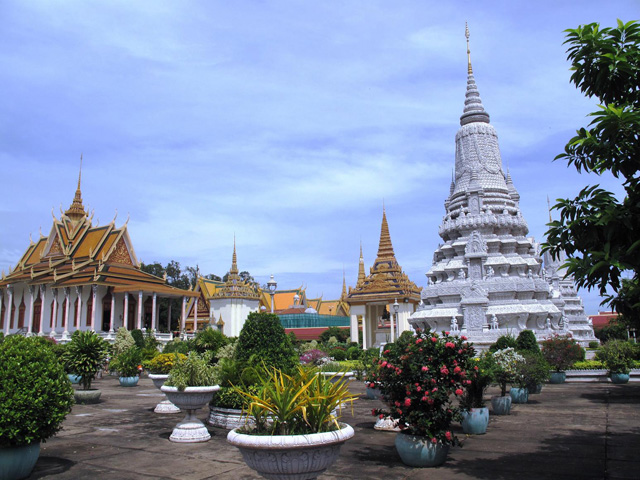
<svg viewBox="0 0 640 480"><path fill-rule="evenodd" d="M567 28L637 0L0 2L0 269L75 193L138 259L338 298L375 260L383 205L418 285L441 239L466 89L464 36L544 241L547 196L613 177L553 161L597 101L569 82ZM557 214L556 214L557 215ZM580 291L588 314L599 297Z"/></svg>

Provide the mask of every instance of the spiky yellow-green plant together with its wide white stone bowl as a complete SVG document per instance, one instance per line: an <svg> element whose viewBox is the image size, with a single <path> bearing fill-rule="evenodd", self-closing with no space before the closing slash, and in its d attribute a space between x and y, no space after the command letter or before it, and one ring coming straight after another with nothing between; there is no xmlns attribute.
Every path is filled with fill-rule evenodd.
<svg viewBox="0 0 640 480"><path fill-rule="evenodd" d="M236 388L249 400L254 424L229 432L227 441L247 465L266 478L316 478L329 468L354 435L339 423L342 405L356 398L346 383L333 383L314 368L290 375L270 368L257 394Z"/></svg>

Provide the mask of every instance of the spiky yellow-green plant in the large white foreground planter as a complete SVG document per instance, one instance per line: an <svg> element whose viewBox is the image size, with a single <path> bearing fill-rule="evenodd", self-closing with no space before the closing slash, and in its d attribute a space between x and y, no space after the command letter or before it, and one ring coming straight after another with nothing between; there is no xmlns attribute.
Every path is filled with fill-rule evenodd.
<svg viewBox="0 0 640 480"><path fill-rule="evenodd" d="M340 429L338 411L353 403L356 395L348 385L331 382L316 369L299 366L290 375L271 368L260 377L256 393L240 387L234 389L247 397L245 409L255 419L255 427L245 431L258 435L302 435Z"/></svg>

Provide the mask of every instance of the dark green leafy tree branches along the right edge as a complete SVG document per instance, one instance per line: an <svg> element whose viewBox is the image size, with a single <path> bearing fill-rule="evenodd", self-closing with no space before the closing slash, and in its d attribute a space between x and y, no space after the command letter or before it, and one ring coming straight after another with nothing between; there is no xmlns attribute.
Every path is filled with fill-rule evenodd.
<svg viewBox="0 0 640 480"><path fill-rule="evenodd" d="M635 322L640 319L640 24L618 20L566 30L571 81L598 100L591 123L556 157L579 172L610 173L622 182L618 199L599 185L574 199L558 199L560 219L548 224L544 251L564 251L578 287L597 288L602 304ZM629 276L630 278L624 278ZM613 293L608 293L608 287Z"/></svg>

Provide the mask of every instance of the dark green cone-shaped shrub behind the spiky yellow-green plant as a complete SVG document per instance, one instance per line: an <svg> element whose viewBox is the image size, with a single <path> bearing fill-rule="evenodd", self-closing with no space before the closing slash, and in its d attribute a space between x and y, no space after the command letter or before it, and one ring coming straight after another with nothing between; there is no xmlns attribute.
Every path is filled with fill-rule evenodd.
<svg viewBox="0 0 640 480"><path fill-rule="evenodd" d="M264 363L285 372L298 364L298 356L280 319L272 313L249 314L238 337L236 359L246 365Z"/></svg>

